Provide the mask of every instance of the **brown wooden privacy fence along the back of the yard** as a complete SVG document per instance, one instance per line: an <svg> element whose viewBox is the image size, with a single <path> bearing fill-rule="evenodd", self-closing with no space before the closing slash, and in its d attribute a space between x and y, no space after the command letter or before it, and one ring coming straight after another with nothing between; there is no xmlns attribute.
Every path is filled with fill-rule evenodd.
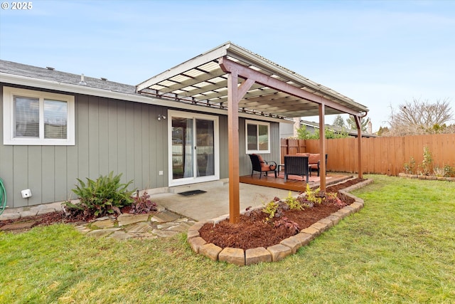
<svg viewBox="0 0 455 304"><path fill-rule="evenodd" d="M410 162L410 157L422 164L424 147L431 152L434 166L455 166L455 134L369 137L361 142L363 173L396 176L404 172L403 165ZM357 143L355 137L326 140L328 171L357 172ZM294 151L319 153L319 140L282 140L282 158L284 154L297 153Z"/></svg>

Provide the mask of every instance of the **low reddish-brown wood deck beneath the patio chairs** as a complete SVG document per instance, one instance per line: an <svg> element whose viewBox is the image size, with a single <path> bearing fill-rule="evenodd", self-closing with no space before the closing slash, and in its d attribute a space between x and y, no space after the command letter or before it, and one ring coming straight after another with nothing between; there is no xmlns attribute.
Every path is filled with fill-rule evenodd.
<svg viewBox="0 0 455 304"><path fill-rule="evenodd" d="M342 182L343 180L350 179L351 177L353 177L353 175L327 174L326 186ZM262 174L261 179L259 179L259 174L253 174L252 177L251 175L244 175L240 177L240 182L245 184L255 184L257 186L285 189L295 192L304 192L306 189L306 182L304 180L287 179L287 182L284 182L283 178L275 178L274 174L269 174L268 176ZM309 184L311 188L319 187L319 177L310 177Z"/></svg>

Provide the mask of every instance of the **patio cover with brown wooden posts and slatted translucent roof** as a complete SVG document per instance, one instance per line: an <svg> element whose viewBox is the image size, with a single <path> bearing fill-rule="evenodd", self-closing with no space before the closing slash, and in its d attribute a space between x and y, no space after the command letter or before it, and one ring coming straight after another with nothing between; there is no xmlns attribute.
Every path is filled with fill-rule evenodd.
<svg viewBox="0 0 455 304"><path fill-rule="evenodd" d="M360 119L368 108L233 43L224 43L140 83L137 92L228 110L231 223L240 218L239 112L277 118L319 115L321 155L326 154L324 116L353 115L358 129L358 176L362 177ZM325 191L325 162L321 162L320 175Z"/></svg>

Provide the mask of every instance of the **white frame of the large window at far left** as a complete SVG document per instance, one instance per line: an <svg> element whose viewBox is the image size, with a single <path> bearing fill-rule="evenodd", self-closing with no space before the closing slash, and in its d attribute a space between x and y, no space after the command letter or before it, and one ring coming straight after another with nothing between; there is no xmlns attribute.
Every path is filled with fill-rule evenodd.
<svg viewBox="0 0 455 304"><path fill-rule="evenodd" d="M30 98L39 98L40 112L43 109L43 100L65 101L68 105L67 112L67 135L65 139L44 138L43 128L40 127L40 137L14 137L14 96L23 96ZM40 125L44 122L40 116ZM52 145L52 146L72 146L75 145L75 98L73 95L64 95L57 93L47 93L37 90L26 90L20 88L3 88L3 143L4 145Z"/></svg>

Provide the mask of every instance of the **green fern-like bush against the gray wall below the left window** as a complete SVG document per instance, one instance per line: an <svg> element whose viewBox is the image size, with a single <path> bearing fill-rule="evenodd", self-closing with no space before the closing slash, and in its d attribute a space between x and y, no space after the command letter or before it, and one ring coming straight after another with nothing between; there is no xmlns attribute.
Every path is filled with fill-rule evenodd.
<svg viewBox="0 0 455 304"><path fill-rule="evenodd" d="M77 216L80 212L83 218L88 216L103 216L105 214L120 214L120 209L123 206L129 206L134 201L132 194L134 191L128 191L127 187L133 181L127 184L120 183L122 174L113 176L110 172L107 176L100 176L96 181L87 178L87 183L81 179L77 179L80 185L72 191L80 200L77 204L70 201L65 201L65 213L72 216Z"/></svg>

